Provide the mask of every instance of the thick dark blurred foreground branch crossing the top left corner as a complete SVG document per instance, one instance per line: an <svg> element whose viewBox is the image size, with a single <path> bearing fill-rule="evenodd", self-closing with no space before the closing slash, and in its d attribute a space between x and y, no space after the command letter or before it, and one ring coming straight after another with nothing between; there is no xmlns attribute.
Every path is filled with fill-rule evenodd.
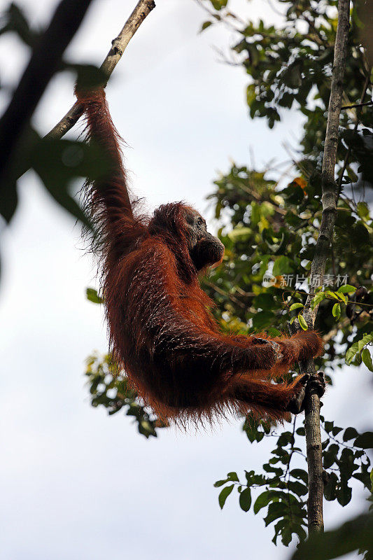
<svg viewBox="0 0 373 560"><path fill-rule="evenodd" d="M62 0L48 29L37 41L29 64L0 120L0 185L13 181L15 151L62 55L76 34L92 0Z"/></svg>

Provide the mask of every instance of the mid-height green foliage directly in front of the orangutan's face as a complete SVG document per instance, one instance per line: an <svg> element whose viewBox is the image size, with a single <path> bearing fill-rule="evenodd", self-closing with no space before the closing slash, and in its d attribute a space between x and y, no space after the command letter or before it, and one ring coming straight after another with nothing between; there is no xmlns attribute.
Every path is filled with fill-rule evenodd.
<svg viewBox="0 0 373 560"><path fill-rule="evenodd" d="M225 223L230 220L230 228L220 230L226 265L214 270L205 281L206 289L218 302L216 316L223 312L222 325L227 330L286 332L287 321L300 314L306 300L306 279L321 219L321 191L305 179L306 192L295 181L280 190L266 177L264 172L233 165L227 175L215 181L216 190L209 197L215 204L216 218ZM338 212L355 223L358 209L350 206L342 199ZM358 239L356 243L352 239L349 247L339 243L351 231L349 224L348 220L337 222L323 290L314 300L320 305L316 328L332 333L337 324L339 332L339 338L337 331L328 336L323 367L342 366L346 346L372 331L370 300L351 302L356 287L370 282L372 218L369 213L365 216L363 228L370 245L364 245L364 251ZM362 310L354 328L346 316L349 304Z"/></svg>

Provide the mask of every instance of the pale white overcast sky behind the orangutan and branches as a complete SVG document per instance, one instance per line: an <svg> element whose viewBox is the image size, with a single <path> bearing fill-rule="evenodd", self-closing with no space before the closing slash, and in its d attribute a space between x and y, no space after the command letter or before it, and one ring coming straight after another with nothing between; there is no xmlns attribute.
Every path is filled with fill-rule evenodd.
<svg viewBox="0 0 373 560"><path fill-rule="evenodd" d="M52 0L19 3L35 23L48 22L55 7ZM278 18L265 0L234 4L267 22ZM96 0L70 59L100 64L133 7L134 1ZM252 149L257 167L283 161L283 141L295 144L300 135L294 113L272 131L264 120L248 119L246 76L222 64L214 48L229 55L234 38L223 28L197 34L205 19L192 0L157 0L107 88L128 144L132 188L150 210L185 199L204 212L212 181L230 160L249 164ZM1 38L3 86L17 83L27 57L15 38ZM48 87L34 118L42 134L69 109L72 91L66 74ZM2 107L6 100L2 93ZM78 227L31 172L20 181L20 206L3 232L1 257L1 559L288 558L260 515L242 512L234 494L221 512L213 488L228 471L260 469L272 438L251 445L232 420L206 432L162 430L146 440L123 414L108 417L90 407L84 360L107 349L102 310L85 300L94 267L81 251ZM338 371L335 379L325 416L367 429L367 370ZM362 503L357 497L348 512L327 503L325 525Z"/></svg>

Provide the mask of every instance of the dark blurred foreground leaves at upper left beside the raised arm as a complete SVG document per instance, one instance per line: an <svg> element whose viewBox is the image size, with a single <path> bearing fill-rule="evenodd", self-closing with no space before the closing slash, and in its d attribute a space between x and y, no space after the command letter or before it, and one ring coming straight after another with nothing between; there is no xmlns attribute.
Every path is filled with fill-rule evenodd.
<svg viewBox="0 0 373 560"><path fill-rule="evenodd" d="M15 34L29 48L33 48L41 36L40 29L34 29L24 11L16 3L10 3L0 15L0 37L6 33ZM73 71L80 83L94 84L103 80L100 69L91 64L69 64L62 61L58 70ZM102 151L81 141L54 140L41 138L28 127L11 154L8 176L1 184L0 215L10 223L17 209L17 180L33 169L41 179L55 202L71 214L85 227L92 228L89 219L76 200L76 179L102 174L108 162Z"/></svg>

